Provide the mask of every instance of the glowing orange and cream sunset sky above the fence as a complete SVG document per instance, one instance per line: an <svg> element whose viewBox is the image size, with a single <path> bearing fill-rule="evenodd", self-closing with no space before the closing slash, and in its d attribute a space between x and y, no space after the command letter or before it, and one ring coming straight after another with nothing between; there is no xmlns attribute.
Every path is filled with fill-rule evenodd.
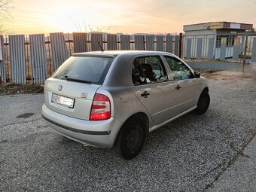
<svg viewBox="0 0 256 192"><path fill-rule="evenodd" d="M183 25L209 21L256 26L255 0L14 0L13 19L5 27L15 34L48 32L168 33Z"/></svg>

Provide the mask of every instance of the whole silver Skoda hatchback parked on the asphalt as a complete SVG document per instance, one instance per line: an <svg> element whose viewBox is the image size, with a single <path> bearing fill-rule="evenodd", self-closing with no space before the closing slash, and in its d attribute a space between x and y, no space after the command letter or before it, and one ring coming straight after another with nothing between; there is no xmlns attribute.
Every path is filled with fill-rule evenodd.
<svg viewBox="0 0 256 192"><path fill-rule="evenodd" d="M44 84L42 117L63 136L124 159L139 154L147 133L209 107L205 78L171 53L74 53Z"/></svg>

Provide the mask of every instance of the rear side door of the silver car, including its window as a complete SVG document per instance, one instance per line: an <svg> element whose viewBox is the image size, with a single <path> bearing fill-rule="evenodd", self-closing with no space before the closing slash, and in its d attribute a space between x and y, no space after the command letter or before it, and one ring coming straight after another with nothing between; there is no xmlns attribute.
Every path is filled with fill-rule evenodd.
<svg viewBox="0 0 256 192"><path fill-rule="evenodd" d="M155 124L175 116L175 85L169 82L159 55L139 56L133 61L134 92Z"/></svg>

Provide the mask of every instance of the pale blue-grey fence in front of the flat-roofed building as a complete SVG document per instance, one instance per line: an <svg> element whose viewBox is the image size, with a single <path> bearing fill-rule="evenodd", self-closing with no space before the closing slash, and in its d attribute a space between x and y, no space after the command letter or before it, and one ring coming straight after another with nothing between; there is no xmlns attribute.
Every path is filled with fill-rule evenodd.
<svg viewBox="0 0 256 192"><path fill-rule="evenodd" d="M218 59L228 62L243 62L246 59L250 63L256 62L255 33L184 35L182 47L185 59Z"/></svg>

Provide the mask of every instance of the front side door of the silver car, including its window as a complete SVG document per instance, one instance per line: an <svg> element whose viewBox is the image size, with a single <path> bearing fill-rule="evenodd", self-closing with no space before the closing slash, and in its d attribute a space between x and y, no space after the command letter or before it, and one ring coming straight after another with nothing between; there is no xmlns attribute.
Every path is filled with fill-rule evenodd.
<svg viewBox="0 0 256 192"><path fill-rule="evenodd" d="M167 55L164 58L175 83L175 115L178 115L197 105L200 81L181 59Z"/></svg>

